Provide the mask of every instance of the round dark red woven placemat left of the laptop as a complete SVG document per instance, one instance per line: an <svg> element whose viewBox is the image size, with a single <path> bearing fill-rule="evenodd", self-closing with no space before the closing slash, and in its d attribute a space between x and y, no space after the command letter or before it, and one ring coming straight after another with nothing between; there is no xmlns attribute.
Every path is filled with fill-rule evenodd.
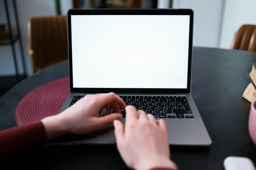
<svg viewBox="0 0 256 170"><path fill-rule="evenodd" d="M18 126L57 115L69 94L69 79L44 84L24 96L15 109Z"/></svg>

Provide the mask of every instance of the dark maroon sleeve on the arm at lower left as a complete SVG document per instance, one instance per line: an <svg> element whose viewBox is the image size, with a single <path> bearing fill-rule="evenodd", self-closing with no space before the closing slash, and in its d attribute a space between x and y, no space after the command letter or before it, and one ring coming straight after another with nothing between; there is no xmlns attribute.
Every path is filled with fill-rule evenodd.
<svg viewBox="0 0 256 170"><path fill-rule="evenodd" d="M47 141L42 121L13 127L0 132L0 162L18 153L43 145Z"/></svg>

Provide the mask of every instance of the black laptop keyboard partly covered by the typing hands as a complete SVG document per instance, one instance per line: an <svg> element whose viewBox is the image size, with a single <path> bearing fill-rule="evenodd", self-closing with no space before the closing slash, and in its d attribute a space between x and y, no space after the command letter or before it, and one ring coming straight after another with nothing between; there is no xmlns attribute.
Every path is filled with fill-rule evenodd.
<svg viewBox="0 0 256 170"><path fill-rule="evenodd" d="M70 106L74 105L85 95L74 95ZM126 105L131 105L137 110L144 110L147 114L152 114L155 118L194 118L186 96L119 96ZM69 106L69 107L70 107ZM119 107L123 118L126 117L124 107ZM101 109L104 116L103 108ZM113 109L110 107L110 113Z"/></svg>

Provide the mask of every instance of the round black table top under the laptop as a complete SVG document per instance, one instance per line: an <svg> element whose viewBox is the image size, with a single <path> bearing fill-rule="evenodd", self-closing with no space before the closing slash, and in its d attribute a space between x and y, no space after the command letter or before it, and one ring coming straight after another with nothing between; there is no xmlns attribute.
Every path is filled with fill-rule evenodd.
<svg viewBox="0 0 256 170"><path fill-rule="evenodd" d="M198 47L193 50L192 96L213 144L208 149L171 147L172 160L179 169L222 169L228 156L249 157L256 164L256 146L247 128L250 103L242 98L256 53ZM28 92L67 76L68 62L64 61L14 86L0 99L0 130L17 126L14 110ZM115 146L43 146L8 165L27 169L128 169Z"/></svg>

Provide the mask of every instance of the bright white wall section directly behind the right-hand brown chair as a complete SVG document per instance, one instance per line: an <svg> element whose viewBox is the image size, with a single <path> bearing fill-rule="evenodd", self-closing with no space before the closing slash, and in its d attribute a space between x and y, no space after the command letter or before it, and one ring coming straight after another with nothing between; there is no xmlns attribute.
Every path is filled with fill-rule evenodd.
<svg viewBox="0 0 256 170"><path fill-rule="evenodd" d="M256 24L255 0L226 0L220 48L229 49L235 33L243 24Z"/></svg>

